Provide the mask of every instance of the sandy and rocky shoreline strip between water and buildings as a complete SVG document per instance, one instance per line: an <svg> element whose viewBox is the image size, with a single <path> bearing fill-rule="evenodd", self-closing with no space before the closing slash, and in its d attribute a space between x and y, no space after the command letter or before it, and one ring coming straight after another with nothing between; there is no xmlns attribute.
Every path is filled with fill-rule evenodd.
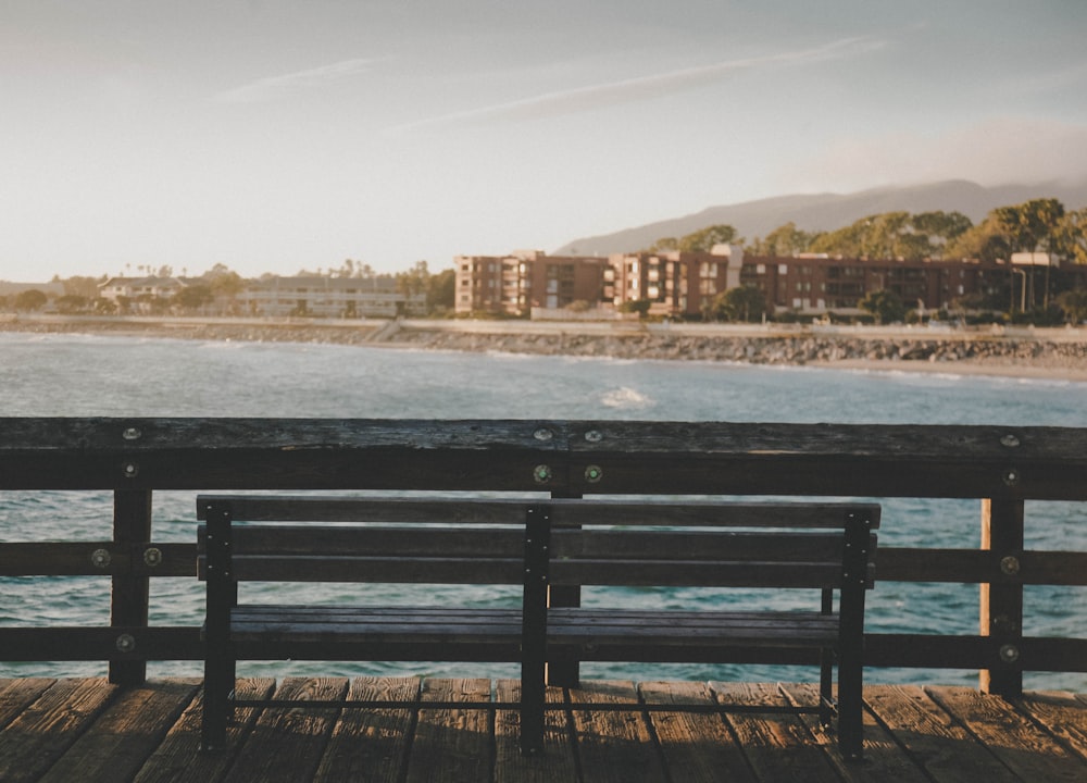
<svg viewBox="0 0 1087 783"><path fill-rule="evenodd" d="M709 361L1087 383L1087 331L521 321L0 318L0 331Z"/></svg>

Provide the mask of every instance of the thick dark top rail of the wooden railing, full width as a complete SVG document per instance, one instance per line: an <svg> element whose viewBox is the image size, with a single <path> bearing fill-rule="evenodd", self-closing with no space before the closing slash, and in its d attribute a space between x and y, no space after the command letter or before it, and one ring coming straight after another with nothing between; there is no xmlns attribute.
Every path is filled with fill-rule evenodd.
<svg viewBox="0 0 1087 783"><path fill-rule="evenodd" d="M1087 499L1087 428L0 418L0 489Z"/></svg>

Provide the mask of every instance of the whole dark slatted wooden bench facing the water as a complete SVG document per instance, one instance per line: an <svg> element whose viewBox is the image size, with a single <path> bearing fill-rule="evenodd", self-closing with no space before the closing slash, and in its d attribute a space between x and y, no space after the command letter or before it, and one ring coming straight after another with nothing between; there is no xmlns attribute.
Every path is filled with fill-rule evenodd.
<svg viewBox="0 0 1087 783"><path fill-rule="evenodd" d="M813 662L824 724L836 663L838 742L861 754L876 505L216 495L197 506L207 748L224 744L235 706L268 704L234 698L237 660L518 662L520 704L475 706L518 709L526 755L542 748L547 666L592 660ZM247 581L507 584L521 595L499 608L367 602L364 589L352 606L264 605L239 601ZM549 607L551 587L588 585L817 594L805 611Z"/></svg>

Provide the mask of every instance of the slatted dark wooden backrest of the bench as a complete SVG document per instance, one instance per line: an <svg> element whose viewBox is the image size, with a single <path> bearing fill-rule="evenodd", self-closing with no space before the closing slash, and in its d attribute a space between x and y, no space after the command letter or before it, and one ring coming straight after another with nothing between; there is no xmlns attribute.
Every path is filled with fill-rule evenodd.
<svg viewBox="0 0 1087 783"><path fill-rule="evenodd" d="M218 526L236 581L521 584L536 558L553 585L836 588L871 587L879 507L207 495L198 517L201 579Z"/></svg>

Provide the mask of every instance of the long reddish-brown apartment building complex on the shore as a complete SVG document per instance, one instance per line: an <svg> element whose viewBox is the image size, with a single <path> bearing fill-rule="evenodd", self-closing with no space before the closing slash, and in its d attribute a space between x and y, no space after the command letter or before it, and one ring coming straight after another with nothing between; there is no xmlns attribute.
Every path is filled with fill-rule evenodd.
<svg viewBox="0 0 1087 783"><path fill-rule="evenodd" d="M1066 272L1079 285L1085 273L1087 268ZM1033 297L1037 274L1004 261L745 256L739 246L608 259L549 257L535 250L504 258L458 257L457 312L522 315L575 302L614 312L626 302L648 300L652 314L689 318L702 315L717 295L740 285L762 289L770 310L778 314L857 314L860 301L882 289L895 293L908 308L932 312L964 297L1019 299L1028 276ZM1009 301L1009 307L1019 303Z"/></svg>

